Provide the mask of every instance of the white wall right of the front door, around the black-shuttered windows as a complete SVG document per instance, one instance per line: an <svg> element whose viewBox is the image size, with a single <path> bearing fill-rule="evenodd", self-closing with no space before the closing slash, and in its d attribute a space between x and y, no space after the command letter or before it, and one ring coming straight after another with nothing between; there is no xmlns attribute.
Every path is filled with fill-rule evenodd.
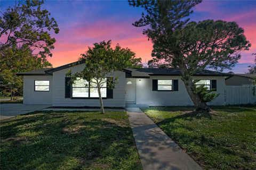
<svg viewBox="0 0 256 170"><path fill-rule="evenodd" d="M178 79L179 91L152 91L153 79ZM220 95L211 101L209 105L225 104L224 77L193 77L193 79L217 80L216 93ZM150 79L136 79L136 104L149 106L189 106L193 105L193 102L180 76L151 76Z"/></svg>

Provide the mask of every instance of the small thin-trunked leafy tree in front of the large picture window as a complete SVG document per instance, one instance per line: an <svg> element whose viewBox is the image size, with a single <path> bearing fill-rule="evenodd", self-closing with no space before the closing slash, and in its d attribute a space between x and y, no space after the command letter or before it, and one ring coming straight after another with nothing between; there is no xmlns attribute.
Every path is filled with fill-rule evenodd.
<svg viewBox="0 0 256 170"><path fill-rule="evenodd" d="M105 113L101 97L101 88L107 84L108 88L114 89L118 83L118 77L106 79L108 75L115 71L122 71L125 67L142 67L141 58L135 58L129 48L121 48L118 44L111 48L111 40L94 43L94 47L89 47L87 52L81 54L79 61L85 61L85 67L81 72L72 73L68 71L67 75L72 77L72 82L82 78L98 89L101 113ZM85 87L88 84L85 84Z"/></svg>

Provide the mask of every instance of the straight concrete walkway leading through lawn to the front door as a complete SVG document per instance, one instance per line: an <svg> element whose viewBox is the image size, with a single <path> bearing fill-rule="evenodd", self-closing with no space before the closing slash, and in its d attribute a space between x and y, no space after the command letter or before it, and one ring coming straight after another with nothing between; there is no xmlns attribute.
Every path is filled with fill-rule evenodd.
<svg viewBox="0 0 256 170"><path fill-rule="evenodd" d="M126 108L144 170L202 169L139 108Z"/></svg>

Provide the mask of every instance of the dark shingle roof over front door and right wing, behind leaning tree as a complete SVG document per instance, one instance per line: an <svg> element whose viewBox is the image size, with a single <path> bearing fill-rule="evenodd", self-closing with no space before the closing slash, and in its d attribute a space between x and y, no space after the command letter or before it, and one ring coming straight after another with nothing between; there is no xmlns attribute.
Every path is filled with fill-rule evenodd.
<svg viewBox="0 0 256 170"><path fill-rule="evenodd" d="M132 77L150 77L150 75L180 75L180 69L151 69L151 68L140 68L140 69L124 69L124 72L130 73ZM202 70L195 75L211 75L211 76L228 76L227 73L216 72L211 70Z"/></svg>

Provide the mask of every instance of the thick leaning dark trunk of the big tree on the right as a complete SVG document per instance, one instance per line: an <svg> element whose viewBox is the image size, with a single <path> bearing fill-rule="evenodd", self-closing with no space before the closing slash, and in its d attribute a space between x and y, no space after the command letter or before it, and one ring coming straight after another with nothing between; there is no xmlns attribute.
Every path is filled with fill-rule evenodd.
<svg viewBox="0 0 256 170"><path fill-rule="evenodd" d="M211 111L210 107L199 97L199 95L193 92L193 80L191 75L188 73L185 64L180 63L180 73L187 89L188 95L193 101L196 111L203 111L209 113Z"/></svg>

